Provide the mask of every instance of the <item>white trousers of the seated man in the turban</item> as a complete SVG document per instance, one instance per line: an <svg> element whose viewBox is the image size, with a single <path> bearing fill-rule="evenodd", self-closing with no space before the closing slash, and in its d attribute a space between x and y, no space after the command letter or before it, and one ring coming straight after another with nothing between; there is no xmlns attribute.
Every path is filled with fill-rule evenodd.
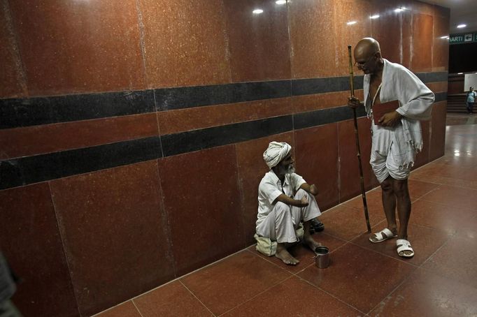
<svg viewBox="0 0 477 317"><path fill-rule="evenodd" d="M266 218L257 225L257 234L278 243L297 242L295 229L300 222L309 221L321 214L315 197L303 189L297 191L294 199L301 200L304 196L308 198L306 207L295 207L277 202Z"/></svg>

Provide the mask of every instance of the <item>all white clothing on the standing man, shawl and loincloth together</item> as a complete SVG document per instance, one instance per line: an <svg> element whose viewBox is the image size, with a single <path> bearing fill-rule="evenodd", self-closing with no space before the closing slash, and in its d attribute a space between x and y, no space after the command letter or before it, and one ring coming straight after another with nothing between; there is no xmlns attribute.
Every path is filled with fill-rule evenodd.
<svg viewBox="0 0 477 317"><path fill-rule="evenodd" d="M416 152L422 149L422 133L419 120L431 117L434 93L411 71L399 64L384 60L383 77L379 99L381 103L399 100L396 110L401 117L401 124L394 128L385 128L372 124L373 145L371 148L371 165L379 182L387 175L396 175L397 179L408 176L414 164ZM371 75L364 75L364 106L371 117L372 96L369 96ZM376 165L376 157L384 156L385 165ZM390 159L387 156L391 156ZM375 161L373 161L375 158ZM389 172L391 170L391 173ZM394 176L393 176L394 177Z"/></svg>

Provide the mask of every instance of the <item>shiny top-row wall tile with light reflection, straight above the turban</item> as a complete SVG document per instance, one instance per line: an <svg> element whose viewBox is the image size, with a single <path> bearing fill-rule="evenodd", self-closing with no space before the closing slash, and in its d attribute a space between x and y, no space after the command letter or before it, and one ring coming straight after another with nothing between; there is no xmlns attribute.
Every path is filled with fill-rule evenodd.
<svg viewBox="0 0 477 317"><path fill-rule="evenodd" d="M287 6L270 0L224 0L232 82L290 78ZM261 14L252 10L260 8Z"/></svg>

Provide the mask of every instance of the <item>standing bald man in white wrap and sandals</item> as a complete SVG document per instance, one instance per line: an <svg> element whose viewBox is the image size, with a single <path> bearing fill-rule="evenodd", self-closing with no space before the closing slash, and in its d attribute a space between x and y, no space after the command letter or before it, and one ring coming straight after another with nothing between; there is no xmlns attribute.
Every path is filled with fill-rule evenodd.
<svg viewBox="0 0 477 317"><path fill-rule="evenodd" d="M422 149L419 120L430 119L434 94L407 68L383 59L377 40L359 40L354 53L357 68L364 72L364 103L350 97L348 106L364 105L368 117L374 119L371 120L369 163L383 190L383 209L387 219L387 228L373 233L369 241L378 243L397 237L398 255L411 258L414 250L408 241L411 216L408 176L415 155ZM399 108L373 118L373 107L378 108L380 103L389 101L399 101Z"/></svg>

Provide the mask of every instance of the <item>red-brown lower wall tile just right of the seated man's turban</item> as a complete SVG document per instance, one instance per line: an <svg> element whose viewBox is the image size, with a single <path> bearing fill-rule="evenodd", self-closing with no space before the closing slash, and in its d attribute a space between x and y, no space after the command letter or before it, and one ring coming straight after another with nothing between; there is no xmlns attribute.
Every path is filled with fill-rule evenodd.
<svg viewBox="0 0 477 317"><path fill-rule="evenodd" d="M326 210L339 201L338 124L295 131L297 173L318 186L318 206Z"/></svg>

